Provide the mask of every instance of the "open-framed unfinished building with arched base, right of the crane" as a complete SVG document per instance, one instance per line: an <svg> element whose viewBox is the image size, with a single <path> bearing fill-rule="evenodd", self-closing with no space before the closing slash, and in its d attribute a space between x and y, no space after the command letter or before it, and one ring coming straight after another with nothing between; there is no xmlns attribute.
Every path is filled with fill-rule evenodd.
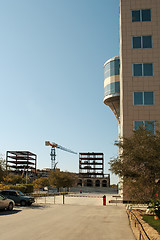
<svg viewBox="0 0 160 240"><path fill-rule="evenodd" d="M110 187L110 175L104 174L103 153L79 153L78 186Z"/></svg>

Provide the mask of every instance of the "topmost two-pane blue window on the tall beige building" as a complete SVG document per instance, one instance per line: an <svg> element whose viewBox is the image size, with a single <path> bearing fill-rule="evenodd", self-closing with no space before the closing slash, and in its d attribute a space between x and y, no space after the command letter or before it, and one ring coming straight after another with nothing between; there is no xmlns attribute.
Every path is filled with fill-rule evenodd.
<svg viewBox="0 0 160 240"><path fill-rule="evenodd" d="M131 11L132 22L150 22L152 21L151 9Z"/></svg>

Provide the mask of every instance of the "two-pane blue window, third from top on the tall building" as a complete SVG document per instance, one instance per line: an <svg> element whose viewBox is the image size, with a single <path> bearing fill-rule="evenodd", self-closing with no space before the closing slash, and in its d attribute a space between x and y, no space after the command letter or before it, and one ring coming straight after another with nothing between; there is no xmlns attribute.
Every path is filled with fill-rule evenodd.
<svg viewBox="0 0 160 240"><path fill-rule="evenodd" d="M153 63L133 64L133 76L153 76Z"/></svg>

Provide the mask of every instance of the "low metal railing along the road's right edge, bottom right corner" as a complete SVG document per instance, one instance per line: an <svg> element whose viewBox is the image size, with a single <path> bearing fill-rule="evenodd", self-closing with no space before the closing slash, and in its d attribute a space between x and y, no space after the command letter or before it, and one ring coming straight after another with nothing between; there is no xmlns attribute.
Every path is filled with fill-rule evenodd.
<svg viewBox="0 0 160 240"><path fill-rule="evenodd" d="M127 210L129 225L136 237L137 240L151 240L147 235L146 231L143 228L142 223L136 217L136 215L132 212L132 210Z"/></svg>

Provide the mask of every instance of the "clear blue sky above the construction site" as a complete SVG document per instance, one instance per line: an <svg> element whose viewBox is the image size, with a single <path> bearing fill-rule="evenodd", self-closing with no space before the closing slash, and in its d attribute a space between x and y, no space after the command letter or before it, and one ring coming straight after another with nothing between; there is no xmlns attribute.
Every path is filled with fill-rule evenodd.
<svg viewBox="0 0 160 240"><path fill-rule="evenodd" d="M28 150L50 167L46 140L117 155L117 120L103 103L103 64L119 54L119 0L0 2L0 153ZM61 170L78 155L57 150ZM117 177L111 175L111 183Z"/></svg>

